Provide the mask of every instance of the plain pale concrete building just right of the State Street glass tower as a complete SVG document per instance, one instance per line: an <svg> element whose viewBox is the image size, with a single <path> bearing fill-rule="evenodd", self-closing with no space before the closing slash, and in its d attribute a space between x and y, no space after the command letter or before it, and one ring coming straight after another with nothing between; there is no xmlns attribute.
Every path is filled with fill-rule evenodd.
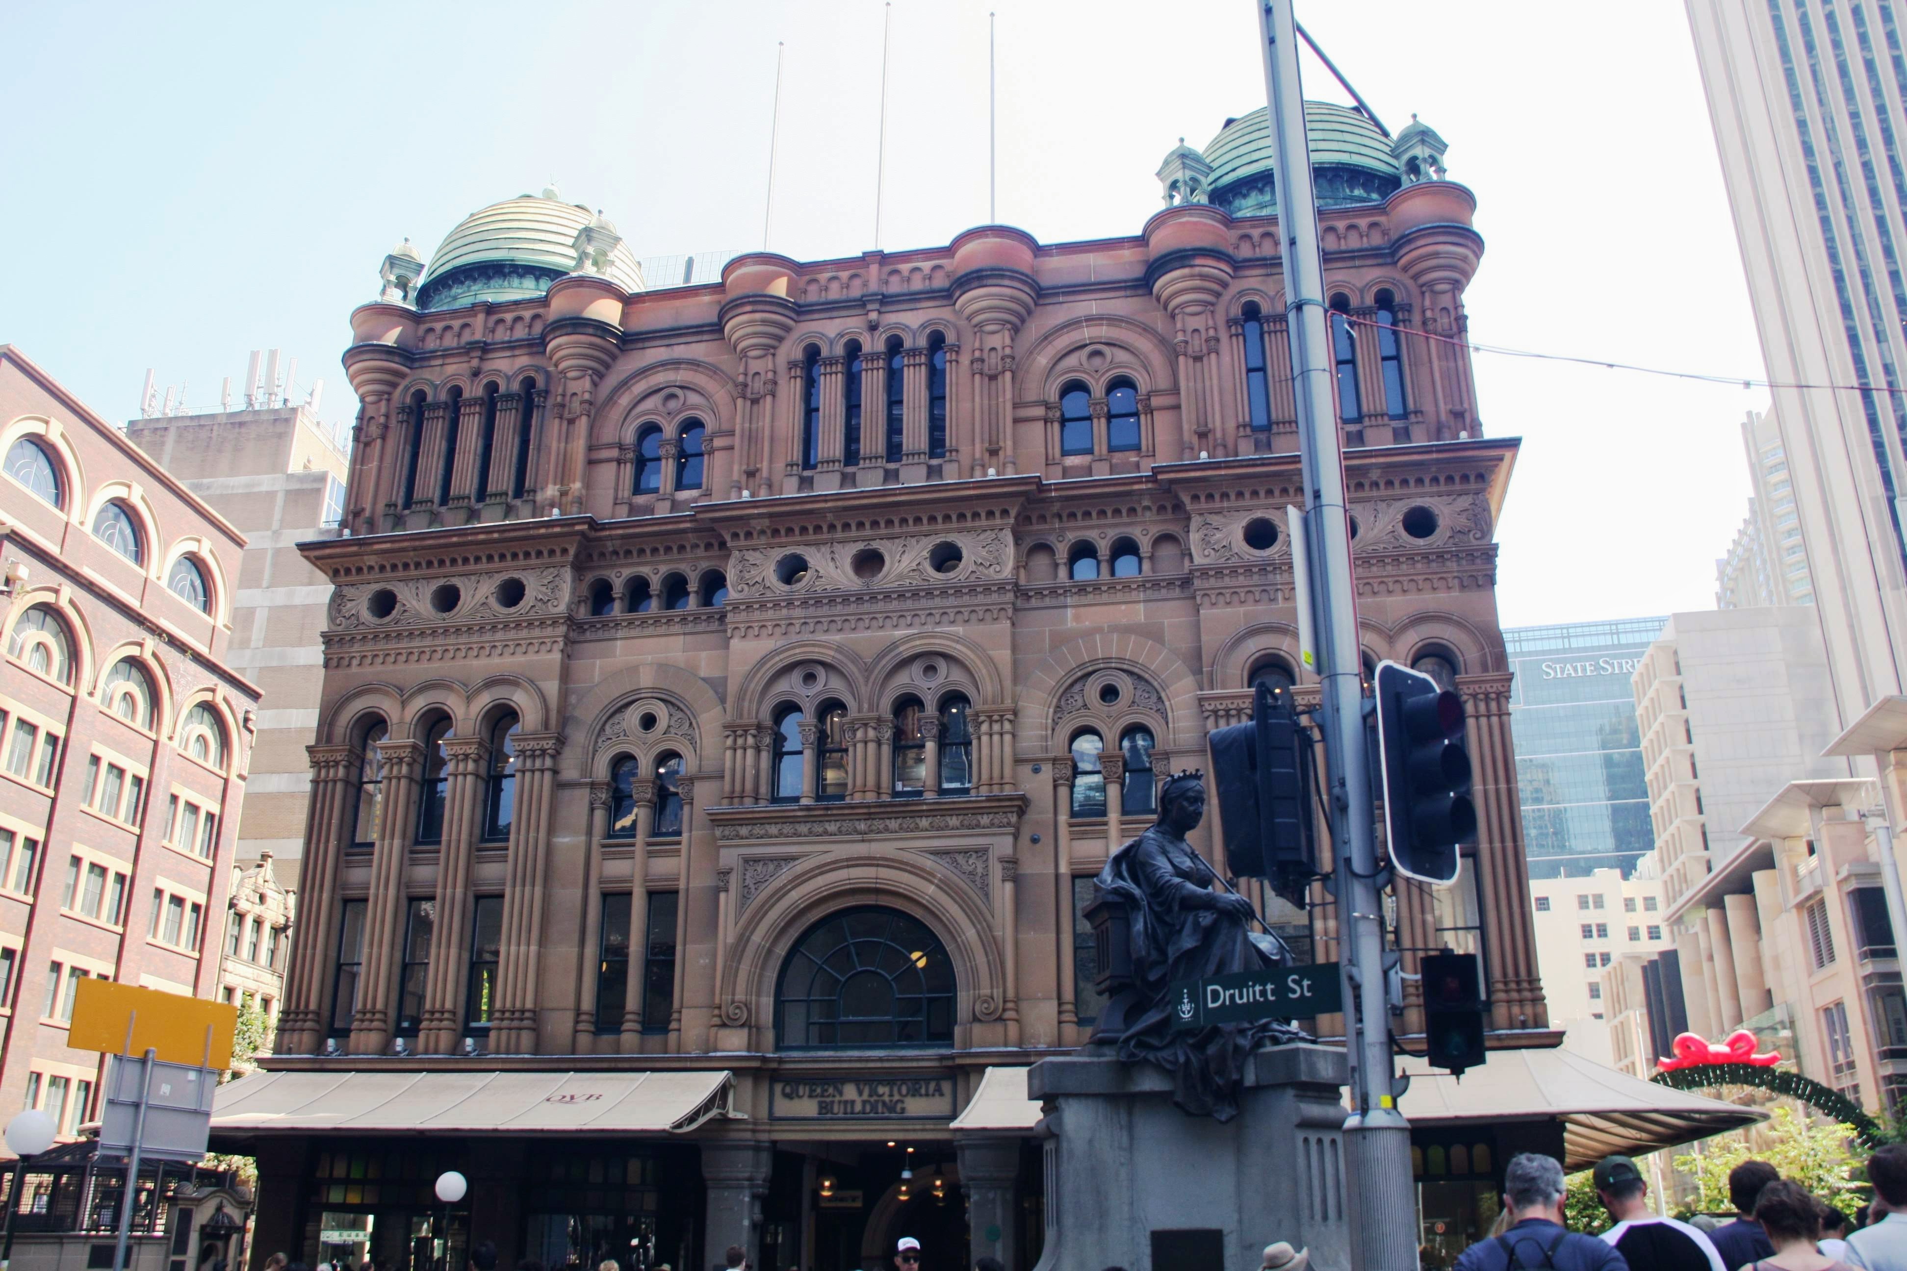
<svg viewBox="0 0 1907 1271"><path fill-rule="evenodd" d="M1806 606L1674 614L1634 673L1650 871L1680 903L1745 842L1789 781L1850 776L1835 739L1821 629Z"/></svg>

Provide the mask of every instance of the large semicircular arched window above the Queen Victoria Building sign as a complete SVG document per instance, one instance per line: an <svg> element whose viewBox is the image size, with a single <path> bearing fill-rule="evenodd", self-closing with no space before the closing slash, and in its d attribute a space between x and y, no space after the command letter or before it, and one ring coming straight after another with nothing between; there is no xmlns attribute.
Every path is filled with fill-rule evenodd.
<svg viewBox="0 0 1907 1271"><path fill-rule="evenodd" d="M952 1044L954 958L896 909L830 915L782 964L774 1035L782 1050Z"/></svg>

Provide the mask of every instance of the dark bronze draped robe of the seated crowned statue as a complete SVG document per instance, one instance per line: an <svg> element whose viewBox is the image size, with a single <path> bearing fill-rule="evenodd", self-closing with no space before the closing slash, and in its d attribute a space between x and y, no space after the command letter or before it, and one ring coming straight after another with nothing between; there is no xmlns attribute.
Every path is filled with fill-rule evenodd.
<svg viewBox="0 0 1907 1271"><path fill-rule="evenodd" d="M1102 892L1129 915L1135 995L1142 1014L1116 1039L1119 1058L1146 1059L1173 1075L1173 1103L1196 1117L1230 1120L1245 1079L1245 1056L1268 1042L1302 1039L1289 1023L1215 1023L1173 1031L1165 989L1280 966L1287 955L1270 938L1253 938L1245 918L1213 909L1213 871L1161 825L1119 848L1098 875Z"/></svg>

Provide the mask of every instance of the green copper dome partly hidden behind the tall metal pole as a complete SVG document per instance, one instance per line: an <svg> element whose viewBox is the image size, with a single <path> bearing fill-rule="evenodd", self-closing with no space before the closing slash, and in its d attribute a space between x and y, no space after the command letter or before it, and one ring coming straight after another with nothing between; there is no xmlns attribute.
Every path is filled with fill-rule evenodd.
<svg viewBox="0 0 1907 1271"><path fill-rule="evenodd" d="M1312 173L1320 208L1375 204L1404 185L1392 143L1362 112L1329 101L1304 103ZM1205 145L1211 164L1211 202L1232 215L1266 215L1278 210L1272 179L1272 130L1264 109L1228 120Z"/></svg>

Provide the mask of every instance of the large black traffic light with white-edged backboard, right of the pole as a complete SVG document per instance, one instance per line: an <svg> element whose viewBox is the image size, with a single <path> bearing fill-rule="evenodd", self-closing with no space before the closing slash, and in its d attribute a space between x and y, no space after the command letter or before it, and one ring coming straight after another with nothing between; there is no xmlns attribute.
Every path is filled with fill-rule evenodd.
<svg viewBox="0 0 1907 1271"><path fill-rule="evenodd" d="M1377 762L1390 865L1419 882L1455 882L1457 844L1476 833L1463 697L1428 675L1377 663Z"/></svg>

